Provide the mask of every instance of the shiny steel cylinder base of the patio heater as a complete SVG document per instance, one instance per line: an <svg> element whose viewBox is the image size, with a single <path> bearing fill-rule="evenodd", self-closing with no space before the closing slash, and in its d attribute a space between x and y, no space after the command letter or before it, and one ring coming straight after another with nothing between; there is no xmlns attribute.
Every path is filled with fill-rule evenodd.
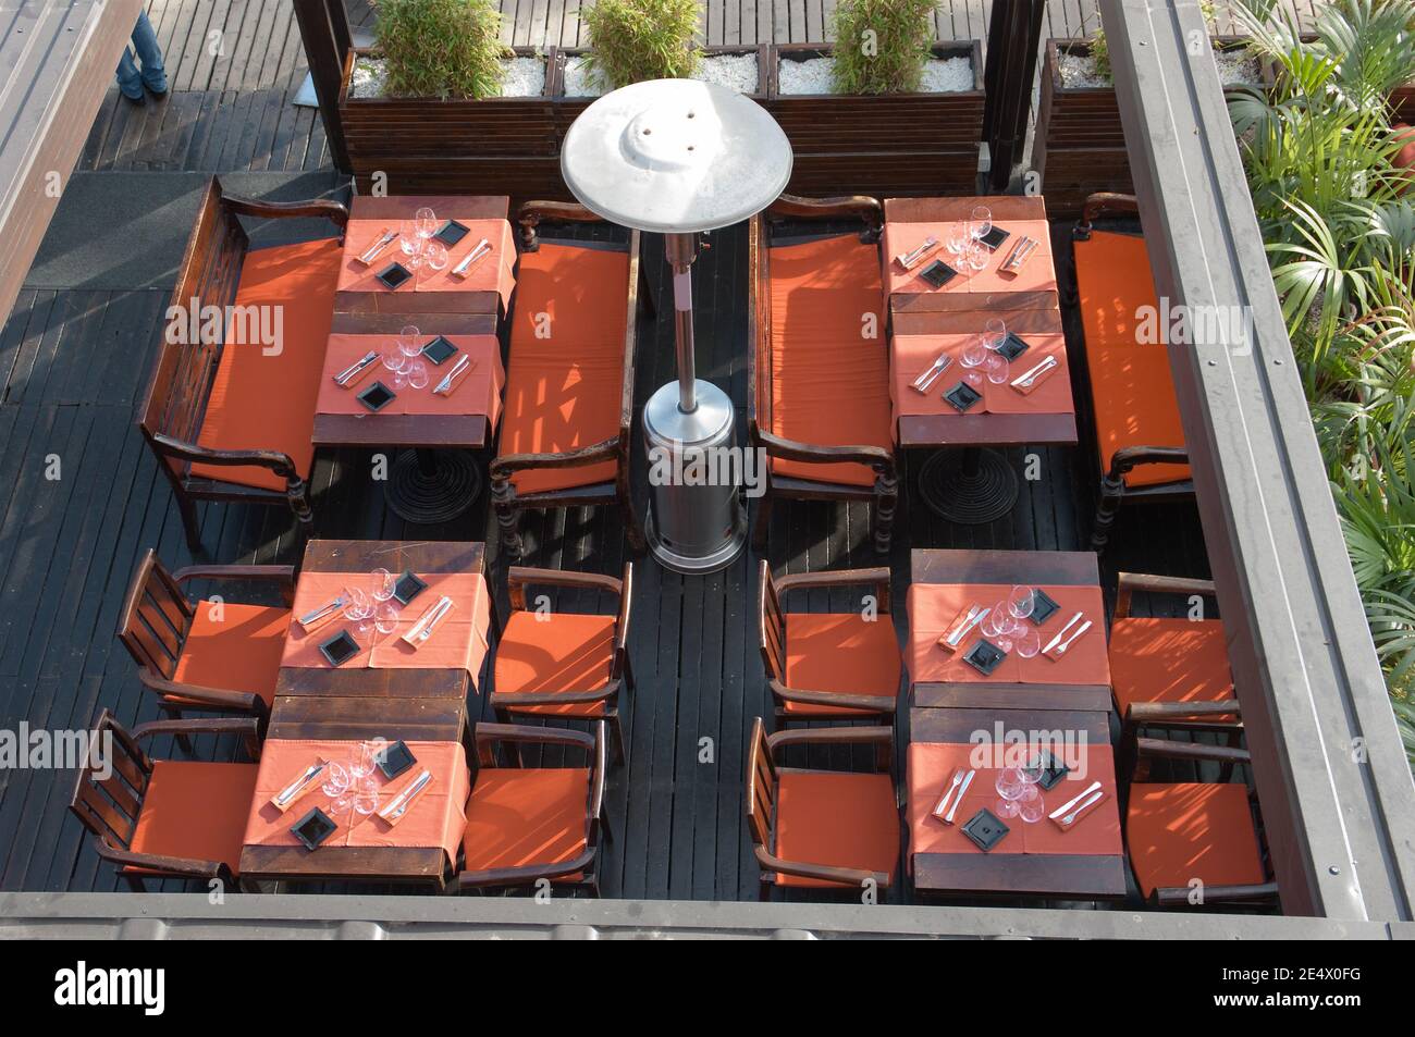
<svg viewBox="0 0 1415 1037"><path fill-rule="evenodd" d="M747 543L741 502L743 456L736 448L732 400L696 379L698 406L685 415L676 382L661 386L644 407L648 454L648 549L675 573L715 573Z"/></svg>

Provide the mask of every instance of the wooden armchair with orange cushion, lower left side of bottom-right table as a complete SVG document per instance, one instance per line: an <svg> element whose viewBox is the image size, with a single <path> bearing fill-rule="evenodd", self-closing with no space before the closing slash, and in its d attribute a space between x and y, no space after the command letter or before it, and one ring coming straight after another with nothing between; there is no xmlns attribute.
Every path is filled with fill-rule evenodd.
<svg viewBox="0 0 1415 1037"><path fill-rule="evenodd" d="M747 828L761 864L761 898L774 886L887 888L899 867L899 795L890 772L894 731L831 727L777 731L761 717L747 751ZM781 767L788 746L874 746L880 772L852 774Z"/></svg>

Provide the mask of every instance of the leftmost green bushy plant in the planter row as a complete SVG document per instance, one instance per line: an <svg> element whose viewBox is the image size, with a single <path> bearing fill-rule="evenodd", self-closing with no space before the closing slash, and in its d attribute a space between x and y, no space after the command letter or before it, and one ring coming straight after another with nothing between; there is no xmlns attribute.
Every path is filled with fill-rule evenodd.
<svg viewBox="0 0 1415 1037"><path fill-rule="evenodd" d="M501 13L491 0L376 0L386 92L408 98L501 93Z"/></svg>

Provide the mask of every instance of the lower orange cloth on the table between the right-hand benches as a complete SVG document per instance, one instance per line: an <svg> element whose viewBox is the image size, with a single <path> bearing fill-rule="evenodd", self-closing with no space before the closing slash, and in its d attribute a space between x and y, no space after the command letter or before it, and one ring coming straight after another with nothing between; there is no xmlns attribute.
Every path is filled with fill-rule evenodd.
<svg viewBox="0 0 1415 1037"><path fill-rule="evenodd" d="M982 328L979 328L982 331ZM900 415L957 415L958 410L944 393L968 373L962 365L962 351L975 334L942 335L894 335L890 338L890 396L894 402L894 416ZM1071 400L1071 375L1067 372L1065 335L1024 334L1019 335L1027 351L1010 364L1007 382L1027 373L1047 357L1056 357L1060 365L1047 375L1030 393L1020 393L1007 382L993 385L983 375L982 402L969 407L968 413L989 415L1070 415L1075 410ZM930 386L928 392L916 392L911 385L916 378L928 371L940 354L952 357L952 364ZM975 368L982 372L982 368ZM978 386L974 386L978 389Z"/></svg>

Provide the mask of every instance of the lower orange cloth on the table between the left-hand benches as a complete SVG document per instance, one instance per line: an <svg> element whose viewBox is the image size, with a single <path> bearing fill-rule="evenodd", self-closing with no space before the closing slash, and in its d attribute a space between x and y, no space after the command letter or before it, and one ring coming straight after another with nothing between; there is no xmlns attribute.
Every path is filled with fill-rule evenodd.
<svg viewBox="0 0 1415 1037"><path fill-rule="evenodd" d="M426 337L432 341L432 337ZM379 354L396 349L396 335L330 335L324 348L324 376L320 379L320 396L316 400L317 415L359 415L376 422L381 415L485 415L491 427L497 427L501 416L501 386L507 373L501 366L501 344L495 335L447 335L449 342L471 357L474 366L457 382L450 396L433 393L443 376L456 366L460 355L444 359L440 365L426 357L427 385L422 389L398 389L398 399L382 410L372 412L358 402L358 395L376 381L391 385L389 371L382 361L375 361L372 372L364 375L348 389L334 383L334 376L347 371L369 349Z"/></svg>

